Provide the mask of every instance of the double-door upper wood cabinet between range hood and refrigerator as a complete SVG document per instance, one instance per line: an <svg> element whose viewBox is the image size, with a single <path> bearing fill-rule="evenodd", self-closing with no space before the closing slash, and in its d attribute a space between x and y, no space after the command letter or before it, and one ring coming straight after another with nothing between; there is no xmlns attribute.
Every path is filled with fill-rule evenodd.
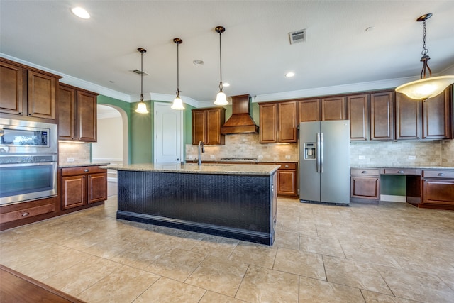
<svg viewBox="0 0 454 303"><path fill-rule="evenodd" d="M294 143L297 138L297 101L260 106L260 143Z"/></svg>

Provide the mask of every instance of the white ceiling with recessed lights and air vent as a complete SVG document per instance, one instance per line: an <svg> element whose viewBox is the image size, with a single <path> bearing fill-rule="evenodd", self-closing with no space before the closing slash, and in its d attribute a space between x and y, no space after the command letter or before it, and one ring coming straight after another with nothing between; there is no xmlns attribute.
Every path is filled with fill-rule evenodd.
<svg viewBox="0 0 454 303"><path fill-rule="evenodd" d="M75 17L72 6L83 6L92 18ZM416 18L424 13L433 13L427 48L429 65L439 75L454 65L454 1L1 0L0 53L65 75L61 82L83 79L87 87L96 84L138 101L140 76L131 71L140 70L137 48L145 48L144 94L172 99L177 88L172 40L182 38L183 99L212 101L219 83L214 28L224 26L228 96L305 97L326 87L372 82L371 88L384 88L419 77L423 24ZM303 28L306 42L291 45L288 33ZM196 66L195 59L205 64ZM296 76L284 77L289 71Z"/></svg>

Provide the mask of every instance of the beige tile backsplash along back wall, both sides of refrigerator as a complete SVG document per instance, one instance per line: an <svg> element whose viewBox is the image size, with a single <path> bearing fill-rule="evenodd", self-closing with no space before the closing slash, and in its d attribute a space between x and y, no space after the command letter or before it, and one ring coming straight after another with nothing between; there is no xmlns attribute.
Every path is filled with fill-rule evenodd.
<svg viewBox="0 0 454 303"><path fill-rule="evenodd" d="M197 158L197 148L197 145L186 145L187 160ZM205 153L201 154L202 161L221 158L297 162L299 143L260 144L258 134L228 135L225 145L205 145ZM454 167L454 140L350 142L350 165Z"/></svg>

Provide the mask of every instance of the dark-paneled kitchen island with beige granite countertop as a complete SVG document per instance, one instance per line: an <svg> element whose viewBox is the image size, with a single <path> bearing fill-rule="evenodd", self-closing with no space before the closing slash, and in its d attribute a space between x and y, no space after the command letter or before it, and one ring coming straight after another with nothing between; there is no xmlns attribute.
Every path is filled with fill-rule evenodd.
<svg viewBox="0 0 454 303"><path fill-rule="evenodd" d="M279 165L136 164L118 170L117 219L272 245Z"/></svg>

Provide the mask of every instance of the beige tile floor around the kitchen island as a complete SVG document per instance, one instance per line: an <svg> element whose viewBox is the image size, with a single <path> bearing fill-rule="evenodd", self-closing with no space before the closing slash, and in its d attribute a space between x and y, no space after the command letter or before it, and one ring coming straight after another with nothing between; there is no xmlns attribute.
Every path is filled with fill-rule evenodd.
<svg viewBox="0 0 454 303"><path fill-rule="evenodd" d="M0 233L0 263L87 302L454 302L454 211L278 199L273 246L116 220Z"/></svg>

